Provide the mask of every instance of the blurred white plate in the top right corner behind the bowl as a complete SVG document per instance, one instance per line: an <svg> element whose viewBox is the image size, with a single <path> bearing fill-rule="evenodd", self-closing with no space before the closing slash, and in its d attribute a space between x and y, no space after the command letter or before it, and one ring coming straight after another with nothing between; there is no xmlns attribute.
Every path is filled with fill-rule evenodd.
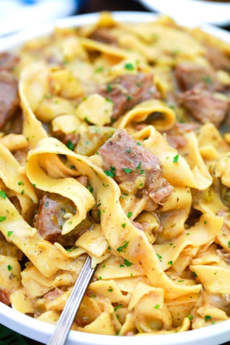
<svg viewBox="0 0 230 345"><path fill-rule="evenodd" d="M230 2L206 0L137 0L149 10L168 14L184 25L210 23L230 24Z"/></svg>

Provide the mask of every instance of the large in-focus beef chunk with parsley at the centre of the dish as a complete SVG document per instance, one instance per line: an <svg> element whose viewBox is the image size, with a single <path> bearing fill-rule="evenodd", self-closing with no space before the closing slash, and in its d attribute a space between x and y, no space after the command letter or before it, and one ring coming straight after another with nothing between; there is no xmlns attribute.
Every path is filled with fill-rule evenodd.
<svg viewBox="0 0 230 345"><path fill-rule="evenodd" d="M119 184L128 183L131 190L134 190L136 179L144 177L143 188L146 188L149 196L158 203L170 195L173 188L162 178L159 158L138 144L127 131L117 129L99 150L103 168L112 169L114 180Z"/></svg>

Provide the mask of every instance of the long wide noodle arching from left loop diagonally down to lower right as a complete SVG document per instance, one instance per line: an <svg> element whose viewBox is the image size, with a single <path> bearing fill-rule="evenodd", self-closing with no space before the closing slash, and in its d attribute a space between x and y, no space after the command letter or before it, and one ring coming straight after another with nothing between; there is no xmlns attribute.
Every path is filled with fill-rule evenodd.
<svg viewBox="0 0 230 345"><path fill-rule="evenodd" d="M58 145L58 149L56 145ZM47 147L49 147L49 150L47 150ZM117 248L122 247L124 243L128 242L131 249L129 250L127 248L125 252L121 252L120 254L132 263L141 265L150 282L154 281L155 285L157 282L157 286L165 289L167 298L174 298L175 296L181 296L188 292L199 292L201 285L189 286L186 285L186 283L178 284L170 280L167 275L163 274L159 266L158 257L147 238L142 235L140 230L130 223L127 216L123 213L119 202L116 202L120 197L119 187L111 178L107 177L101 169L92 164L89 159L68 150L59 140L47 138L41 140L36 148L28 155L26 170L29 176L36 164L36 156L47 151L49 151L49 153L67 155L69 160L71 160L82 174L87 174L89 176L92 186L97 190L98 198L101 203L101 227L103 234L114 250L117 250ZM104 187L103 183L109 186ZM119 224L117 219L120 219ZM126 223L125 230L121 226L122 223ZM154 270L152 270L152 268L154 268Z"/></svg>

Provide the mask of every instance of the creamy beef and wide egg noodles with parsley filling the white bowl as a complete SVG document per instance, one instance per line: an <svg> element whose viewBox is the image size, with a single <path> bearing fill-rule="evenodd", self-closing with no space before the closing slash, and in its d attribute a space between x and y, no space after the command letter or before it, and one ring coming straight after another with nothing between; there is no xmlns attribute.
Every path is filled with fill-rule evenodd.
<svg viewBox="0 0 230 345"><path fill-rule="evenodd" d="M72 329L230 317L230 46L168 17L60 29L0 54L0 301Z"/></svg>

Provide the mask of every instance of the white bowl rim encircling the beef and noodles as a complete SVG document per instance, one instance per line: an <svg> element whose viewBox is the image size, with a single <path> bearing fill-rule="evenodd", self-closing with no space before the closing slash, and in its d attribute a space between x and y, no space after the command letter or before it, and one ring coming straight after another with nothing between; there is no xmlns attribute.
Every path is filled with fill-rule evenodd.
<svg viewBox="0 0 230 345"><path fill-rule="evenodd" d="M145 12L114 12L113 17L119 21L129 22L148 22L156 19L156 15ZM30 30L20 32L7 39L0 39L0 50L13 50L19 47L24 41L47 34L51 32L53 26L71 27L80 26L95 22L98 19L98 13L83 14L63 18L42 26L40 28L31 28ZM202 25L201 28L214 36L217 36L230 43L230 33L222 29L212 27L208 24ZM29 338L41 343L47 343L48 338L54 330L54 326L39 321L27 315L21 314L12 308L0 302L0 323L23 334ZM108 336L70 331L66 345L219 345L230 340L230 320L222 323L169 335L144 336L127 338L123 336Z"/></svg>

